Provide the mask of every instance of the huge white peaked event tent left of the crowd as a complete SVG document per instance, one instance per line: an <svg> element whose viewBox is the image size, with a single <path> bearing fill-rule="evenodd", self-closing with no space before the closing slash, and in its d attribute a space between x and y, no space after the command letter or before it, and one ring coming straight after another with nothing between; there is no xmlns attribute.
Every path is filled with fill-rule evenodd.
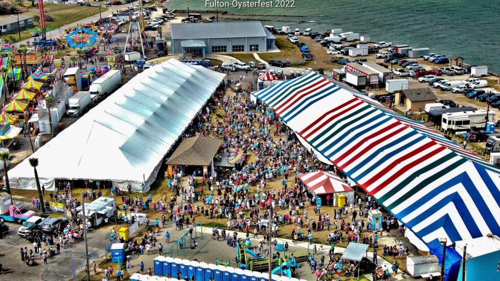
<svg viewBox="0 0 500 281"><path fill-rule="evenodd" d="M111 181L139 190L201 112L224 74L174 59L146 69L36 151L45 189L56 179ZM34 189L28 159L9 171L13 187Z"/></svg>

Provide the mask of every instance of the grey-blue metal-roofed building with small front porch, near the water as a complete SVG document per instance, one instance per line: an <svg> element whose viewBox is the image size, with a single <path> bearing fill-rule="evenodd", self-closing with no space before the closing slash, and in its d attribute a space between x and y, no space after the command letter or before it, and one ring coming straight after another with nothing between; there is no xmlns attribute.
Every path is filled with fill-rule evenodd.
<svg viewBox="0 0 500 281"><path fill-rule="evenodd" d="M172 53L253 52L276 48L276 37L260 21L170 24Z"/></svg>

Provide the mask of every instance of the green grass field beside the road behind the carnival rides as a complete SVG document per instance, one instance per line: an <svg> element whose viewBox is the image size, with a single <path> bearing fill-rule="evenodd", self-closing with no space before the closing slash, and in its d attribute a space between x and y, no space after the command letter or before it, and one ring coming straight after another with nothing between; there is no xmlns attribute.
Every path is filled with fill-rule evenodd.
<svg viewBox="0 0 500 281"><path fill-rule="evenodd" d="M24 16L35 16L38 15L38 9L31 7L31 2L26 2L24 6L29 8L28 12L22 13ZM64 5L64 4L45 4L45 16L49 15L54 18L54 21L46 21L45 25L48 27L48 30L58 29L59 27L69 24L75 21L79 21L86 17L89 17L90 14L98 14L99 7L87 7L87 6L79 6L79 5ZM105 12L108 9L101 8L101 12ZM2 16L0 18L5 18L8 16ZM83 22L82 22L83 23ZM38 26L37 22L34 22L35 26ZM23 30L21 31L21 38L19 39L18 33L11 33L8 35L2 35L0 38L6 38L9 35L13 35L17 41L26 40L31 38L32 31ZM62 34L61 34L62 35Z"/></svg>

